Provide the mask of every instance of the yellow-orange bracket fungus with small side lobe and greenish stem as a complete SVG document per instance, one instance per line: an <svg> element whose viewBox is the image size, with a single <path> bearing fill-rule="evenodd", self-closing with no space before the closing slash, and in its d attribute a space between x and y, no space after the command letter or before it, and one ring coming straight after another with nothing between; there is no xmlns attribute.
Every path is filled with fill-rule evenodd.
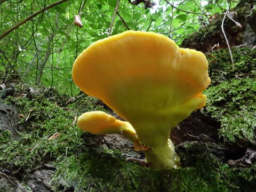
<svg viewBox="0 0 256 192"><path fill-rule="evenodd" d="M123 134L154 168L178 168L170 131L205 106L202 92L211 82L207 69L202 52L181 49L161 34L130 30L97 41L76 59L73 80L127 122L92 111L78 118L78 127Z"/></svg>

